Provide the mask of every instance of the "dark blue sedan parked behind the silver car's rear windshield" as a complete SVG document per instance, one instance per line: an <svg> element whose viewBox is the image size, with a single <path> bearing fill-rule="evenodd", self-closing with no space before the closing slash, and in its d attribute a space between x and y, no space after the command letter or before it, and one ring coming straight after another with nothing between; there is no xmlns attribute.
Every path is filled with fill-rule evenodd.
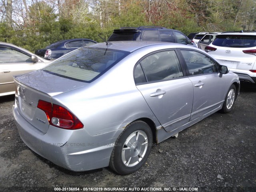
<svg viewBox="0 0 256 192"><path fill-rule="evenodd" d="M90 39L61 40L47 46L44 49L36 50L35 54L44 58L57 59L68 52L95 43L97 42Z"/></svg>

